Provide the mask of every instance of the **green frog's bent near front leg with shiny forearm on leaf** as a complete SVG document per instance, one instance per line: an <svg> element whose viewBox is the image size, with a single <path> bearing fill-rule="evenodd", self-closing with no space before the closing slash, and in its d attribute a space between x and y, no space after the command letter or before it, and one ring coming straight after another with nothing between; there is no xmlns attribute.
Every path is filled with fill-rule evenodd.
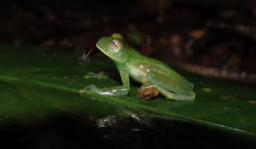
<svg viewBox="0 0 256 149"><path fill-rule="evenodd" d="M90 85L80 90L82 93L91 93L107 95L107 96L121 96L127 95L130 89L128 70L125 67L118 66L118 70L123 82L122 86L110 87L110 88L97 88L95 85Z"/></svg>

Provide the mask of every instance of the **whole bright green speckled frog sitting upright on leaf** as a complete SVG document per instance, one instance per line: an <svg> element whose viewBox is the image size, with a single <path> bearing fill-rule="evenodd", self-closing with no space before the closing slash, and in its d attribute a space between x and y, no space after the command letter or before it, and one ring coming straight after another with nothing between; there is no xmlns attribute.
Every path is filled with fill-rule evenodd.
<svg viewBox="0 0 256 149"><path fill-rule="evenodd" d="M94 85L85 87L84 93L97 93L106 96L127 95L129 77L142 84L156 88L166 99L193 100L193 84L172 70L162 61L141 55L126 44L120 34L101 37L96 46L116 64L123 85L111 88L97 88Z"/></svg>

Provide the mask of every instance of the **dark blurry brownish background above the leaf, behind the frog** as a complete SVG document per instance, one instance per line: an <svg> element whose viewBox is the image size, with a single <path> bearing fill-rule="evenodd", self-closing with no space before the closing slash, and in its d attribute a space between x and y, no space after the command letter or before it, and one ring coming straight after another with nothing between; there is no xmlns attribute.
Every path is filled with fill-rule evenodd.
<svg viewBox="0 0 256 149"><path fill-rule="evenodd" d="M2 0L0 43L99 51L118 32L141 53L256 84L254 0Z"/></svg>

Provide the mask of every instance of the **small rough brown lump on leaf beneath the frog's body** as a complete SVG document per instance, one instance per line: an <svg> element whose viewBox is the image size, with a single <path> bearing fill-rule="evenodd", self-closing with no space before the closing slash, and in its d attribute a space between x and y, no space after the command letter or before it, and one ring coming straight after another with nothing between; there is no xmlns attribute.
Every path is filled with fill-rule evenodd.
<svg viewBox="0 0 256 149"><path fill-rule="evenodd" d="M159 91L155 88L154 85L150 85L149 83L144 83L139 89L137 96L145 101L151 100L155 96L159 94Z"/></svg>

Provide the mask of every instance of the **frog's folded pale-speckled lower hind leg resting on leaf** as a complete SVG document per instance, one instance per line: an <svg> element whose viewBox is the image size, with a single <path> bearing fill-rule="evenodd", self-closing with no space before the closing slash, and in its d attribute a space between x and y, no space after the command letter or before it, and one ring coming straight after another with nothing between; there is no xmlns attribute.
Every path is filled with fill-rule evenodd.
<svg viewBox="0 0 256 149"><path fill-rule="evenodd" d="M166 99L174 99L174 100L193 100L195 98L195 93L193 91L184 92L184 93L173 93L169 92L165 88L162 88L158 85L151 86L156 88L163 96L165 96Z"/></svg>

